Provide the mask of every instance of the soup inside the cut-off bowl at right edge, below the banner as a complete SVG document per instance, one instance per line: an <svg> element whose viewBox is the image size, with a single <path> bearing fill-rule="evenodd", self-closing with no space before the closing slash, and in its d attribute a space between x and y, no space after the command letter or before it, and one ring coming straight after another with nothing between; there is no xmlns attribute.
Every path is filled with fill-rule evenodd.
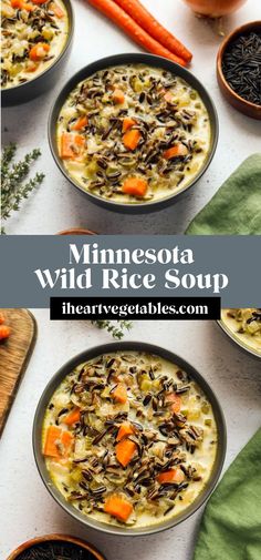
<svg viewBox="0 0 261 560"><path fill-rule="evenodd" d="M261 355L261 309L222 309L221 318L238 340Z"/></svg>

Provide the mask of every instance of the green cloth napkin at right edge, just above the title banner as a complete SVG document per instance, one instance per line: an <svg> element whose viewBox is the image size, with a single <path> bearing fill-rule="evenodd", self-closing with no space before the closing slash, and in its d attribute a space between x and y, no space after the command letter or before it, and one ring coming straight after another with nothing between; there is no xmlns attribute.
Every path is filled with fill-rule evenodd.
<svg viewBox="0 0 261 560"><path fill-rule="evenodd" d="M190 222L187 235L261 234L261 153L248 157Z"/></svg>

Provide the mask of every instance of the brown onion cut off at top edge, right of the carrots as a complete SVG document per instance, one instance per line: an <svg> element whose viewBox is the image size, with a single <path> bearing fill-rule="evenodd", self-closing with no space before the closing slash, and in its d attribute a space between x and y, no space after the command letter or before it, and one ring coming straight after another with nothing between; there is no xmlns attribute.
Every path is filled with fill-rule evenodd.
<svg viewBox="0 0 261 560"><path fill-rule="evenodd" d="M247 0L184 0L184 2L200 16L220 18L238 10Z"/></svg>

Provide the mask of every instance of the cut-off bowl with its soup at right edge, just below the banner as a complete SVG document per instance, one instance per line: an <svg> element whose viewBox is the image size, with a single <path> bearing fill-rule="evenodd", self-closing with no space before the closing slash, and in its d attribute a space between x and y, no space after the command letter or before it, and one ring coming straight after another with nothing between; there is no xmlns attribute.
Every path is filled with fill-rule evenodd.
<svg viewBox="0 0 261 560"><path fill-rule="evenodd" d="M261 359L260 308L222 309L218 324L238 347Z"/></svg>

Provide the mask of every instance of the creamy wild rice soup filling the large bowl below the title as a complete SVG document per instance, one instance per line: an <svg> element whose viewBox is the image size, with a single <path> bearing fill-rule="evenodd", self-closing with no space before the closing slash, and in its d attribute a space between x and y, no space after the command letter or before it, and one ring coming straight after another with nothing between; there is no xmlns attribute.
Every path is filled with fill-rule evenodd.
<svg viewBox="0 0 261 560"><path fill-rule="evenodd" d="M86 516L146 527L205 488L217 452L213 411L186 371L158 356L81 364L48 406L42 449L53 483Z"/></svg>

